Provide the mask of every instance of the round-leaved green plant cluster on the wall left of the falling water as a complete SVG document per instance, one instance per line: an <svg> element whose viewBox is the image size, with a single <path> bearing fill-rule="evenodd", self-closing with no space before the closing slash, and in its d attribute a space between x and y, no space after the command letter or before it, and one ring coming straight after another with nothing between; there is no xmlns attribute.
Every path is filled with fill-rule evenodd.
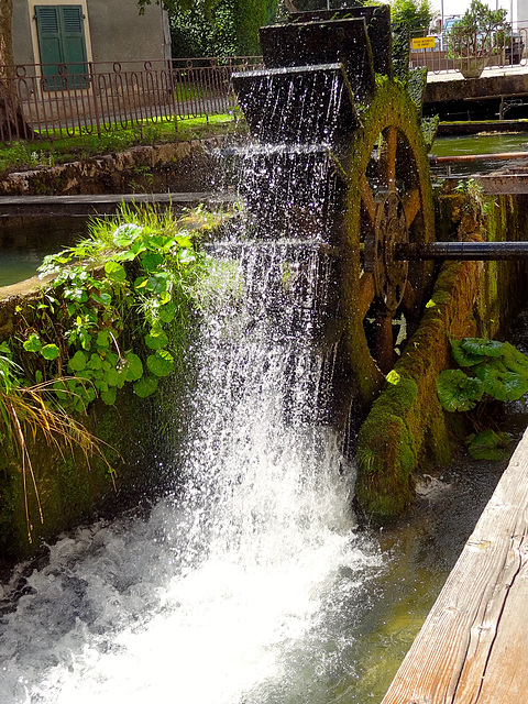
<svg viewBox="0 0 528 704"><path fill-rule="evenodd" d="M54 378L58 400L79 413L98 397L113 404L127 383L148 396L173 372L205 262L168 212L125 208L91 229L89 240L45 258L41 272L54 279L22 340L38 378ZM124 333L132 320L141 332L133 340Z"/></svg>

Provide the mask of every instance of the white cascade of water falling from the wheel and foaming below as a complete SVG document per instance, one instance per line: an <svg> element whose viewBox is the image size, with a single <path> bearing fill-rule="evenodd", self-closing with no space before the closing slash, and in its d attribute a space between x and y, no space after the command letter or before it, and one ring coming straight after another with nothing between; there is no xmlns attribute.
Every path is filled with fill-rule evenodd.
<svg viewBox="0 0 528 704"><path fill-rule="evenodd" d="M305 156L329 173L324 150ZM246 178L249 201L266 168ZM323 704L353 676L346 625L381 558L356 532L354 468L328 421L334 267L320 245L334 185L297 177L300 213L274 186L273 206L253 198L283 218L280 238L250 207L244 231L211 246L231 294L206 307L190 351L173 493L62 537L2 586L0 704Z"/></svg>

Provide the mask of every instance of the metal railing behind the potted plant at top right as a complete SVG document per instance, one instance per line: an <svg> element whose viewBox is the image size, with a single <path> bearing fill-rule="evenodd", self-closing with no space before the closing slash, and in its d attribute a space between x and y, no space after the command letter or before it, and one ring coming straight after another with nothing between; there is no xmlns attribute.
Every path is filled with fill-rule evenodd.
<svg viewBox="0 0 528 704"><path fill-rule="evenodd" d="M420 36L424 36L420 34ZM411 67L427 66L429 72L443 73L466 68L473 61L472 37L457 34L451 30L435 35L435 47L410 52ZM507 68L527 64L528 31L526 28L515 32L498 31L491 37L485 51L479 58L486 68Z"/></svg>

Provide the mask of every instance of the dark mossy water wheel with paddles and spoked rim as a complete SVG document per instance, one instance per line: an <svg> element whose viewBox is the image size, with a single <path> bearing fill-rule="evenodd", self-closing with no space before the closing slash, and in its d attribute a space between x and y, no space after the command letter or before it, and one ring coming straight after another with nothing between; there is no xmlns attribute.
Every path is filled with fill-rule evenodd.
<svg viewBox="0 0 528 704"><path fill-rule="evenodd" d="M294 13L263 28L261 42L266 68L233 77L239 101L256 139L274 147L275 188L290 163L277 150L295 152L308 180L307 154L331 155L340 197L322 237L340 250L350 364L371 402L431 285L430 262L394 256L397 243L435 232L420 81L409 79L408 45L393 51L388 6Z"/></svg>

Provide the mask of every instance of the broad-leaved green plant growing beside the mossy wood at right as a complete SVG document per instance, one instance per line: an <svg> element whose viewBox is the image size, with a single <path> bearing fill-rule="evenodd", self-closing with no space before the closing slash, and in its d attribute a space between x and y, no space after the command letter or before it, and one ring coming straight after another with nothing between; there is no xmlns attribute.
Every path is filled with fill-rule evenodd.
<svg viewBox="0 0 528 704"><path fill-rule="evenodd" d="M499 459L507 433L482 430L483 408L486 402L518 400L528 392L528 358L509 342L481 338L452 340L451 349L461 369L439 374L438 398L450 413L477 409L472 421L480 432L469 436L469 451L475 459Z"/></svg>

